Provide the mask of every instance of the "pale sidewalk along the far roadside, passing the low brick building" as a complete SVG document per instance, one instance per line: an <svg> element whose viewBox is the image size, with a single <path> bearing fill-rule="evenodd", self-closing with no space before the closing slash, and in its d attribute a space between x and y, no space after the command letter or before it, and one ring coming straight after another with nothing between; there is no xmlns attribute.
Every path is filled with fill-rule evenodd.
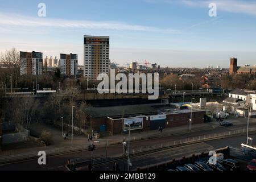
<svg viewBox="0 0 256 182"><path fill-rule="evenodd" d="M246 118L232 118L226 119L225 121L233 122L234 125L242 125L245 122L247 122ZM256 119L250 119L250 122L256 122ZM46 150L76 150L76 148L87 148L89 144L92 142L88 142L88 138L85 136L74 136L73 137L73 147L71 147L71 134L69 134L68 140L64 140L62 133L60 130L49 126L49 125L42 125L37 124L36 126L32 126L33 129L40 130L46 130L50 131L53 135L53 143L48 147L33 147L33 148L22 148L19 150L9 150L9 151L2 151L0 152L0 156L8 156L8 155L15 155L15 154L26 154L29 152L38 152L38 151L46 151ZM197 125L192 125L192 132L196 131L204 131L209 129L215 129L216 127L220 127L220 123L213 121L209 123L202 123ZM172 127L167 128L163 130L163 133L160 133L158 130L153 131L143 131L141 133L131 133L130 134L130 140L141 140L141 139L150 139L155 137L164 137L164 136L170 136L170 135L179 135L179 134L185 134L188 133L189 129L188 126L179 126L179 127ZM123 135L114 135L110 137L95 139L94 144L96 146L105 146L106 142L108 142L109 145L115 144L115 143L121 143L123 139L128 139L128 134Z"/></svg>

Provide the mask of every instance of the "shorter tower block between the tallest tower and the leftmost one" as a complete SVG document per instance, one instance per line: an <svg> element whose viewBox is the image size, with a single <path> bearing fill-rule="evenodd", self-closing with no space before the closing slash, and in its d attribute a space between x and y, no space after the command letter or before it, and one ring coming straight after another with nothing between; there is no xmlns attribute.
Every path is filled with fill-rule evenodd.
<svg viewBox="0 0 256 182"><path fill-rule="evenodd" d="M60 54L60 71L61 75L66 76L77 76L77 54L70 53L66 55L64 53Z"/></svg>

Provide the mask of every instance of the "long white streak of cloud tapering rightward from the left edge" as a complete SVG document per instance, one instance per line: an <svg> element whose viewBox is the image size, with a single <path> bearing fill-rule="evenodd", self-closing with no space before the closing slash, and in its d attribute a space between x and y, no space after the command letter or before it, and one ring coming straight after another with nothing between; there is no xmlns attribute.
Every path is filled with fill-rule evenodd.
<svg viewBox="0 0 256 182"><path fill-rule="evenodd" d="M147 31L162 32L166 34L180 34L181 32L172 28L158 28L128 24L123 22L102 22L88 20L66 20L39 18L23 15L0 14L0 26L19 26L19 27L53 27L53 28L88 28L98 30L127 30L127 31Z"/></svg>

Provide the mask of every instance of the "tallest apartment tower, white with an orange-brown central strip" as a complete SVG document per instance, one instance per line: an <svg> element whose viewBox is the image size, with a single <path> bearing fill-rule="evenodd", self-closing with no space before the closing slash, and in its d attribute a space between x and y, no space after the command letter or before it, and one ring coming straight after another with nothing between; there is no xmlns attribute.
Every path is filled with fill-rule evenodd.
<svg viewBox="0 0 256 182"><path fill-rule="evenodd" d="M109 73L109 36L84 36L84 77L97 80Z"/></svg>

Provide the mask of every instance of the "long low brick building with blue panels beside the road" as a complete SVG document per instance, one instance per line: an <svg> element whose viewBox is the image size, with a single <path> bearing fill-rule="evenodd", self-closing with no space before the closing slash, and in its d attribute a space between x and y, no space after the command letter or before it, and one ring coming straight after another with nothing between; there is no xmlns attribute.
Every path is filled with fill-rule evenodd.
<svg viewBox="0 0 256 182"><path fill-rule="evenodd" d="M129 119L141 119L142 127L133 132L157 130L158 127L176 127L189 124L191 109L177 109L174 106L160 104L129 105L114 107L90 107L89 122L94 131L108 131L111 134L121 134L124 122ZM205 111L192 110L192 125L204 123Z"/></svg>

